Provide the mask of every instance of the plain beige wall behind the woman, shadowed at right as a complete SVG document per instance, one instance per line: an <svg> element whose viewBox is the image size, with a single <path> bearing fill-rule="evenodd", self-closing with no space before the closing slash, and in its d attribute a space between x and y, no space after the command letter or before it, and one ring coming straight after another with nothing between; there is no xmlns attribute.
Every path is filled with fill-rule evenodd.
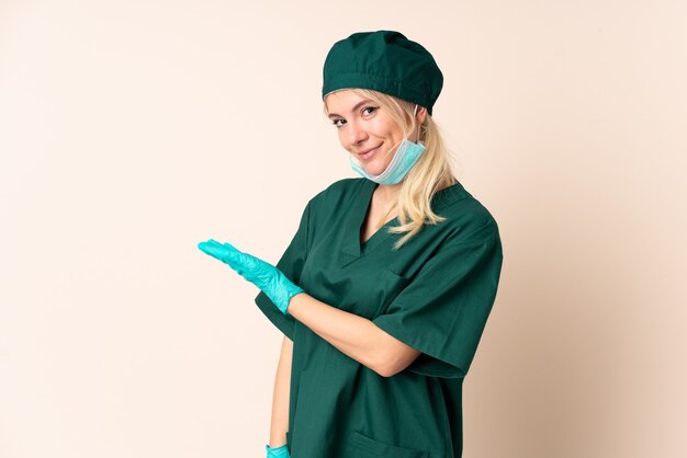
<svg viewBox="0 0 687 458"><path fill-rule="evenodd" d="M505 263L465 457L687 456L684 1L0 0L0 456L261 457L275 262L354 176L322 62L395 28Z"/></svg>

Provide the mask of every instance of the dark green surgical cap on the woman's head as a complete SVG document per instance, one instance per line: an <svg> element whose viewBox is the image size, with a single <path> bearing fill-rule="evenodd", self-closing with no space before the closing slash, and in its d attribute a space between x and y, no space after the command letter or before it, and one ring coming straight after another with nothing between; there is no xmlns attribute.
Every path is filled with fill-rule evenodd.
<svg viewBox="0 0 687 458"><path fill-rule="evenodd" d="M359 32L331 46L323 69L322 98L339 89L371 89L431 108L443 76L418 43L394 31Z"/></svg>

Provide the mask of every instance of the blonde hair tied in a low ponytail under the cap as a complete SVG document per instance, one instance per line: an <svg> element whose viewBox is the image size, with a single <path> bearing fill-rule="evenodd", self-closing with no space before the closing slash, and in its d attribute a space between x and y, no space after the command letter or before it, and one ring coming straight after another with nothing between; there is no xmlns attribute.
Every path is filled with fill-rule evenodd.
<svg viewBox="0 0 687 458"><path fill-rule="evenodd" d="M350 91L378 103L403 128L406 138L415 131L417 124L414 116L414 103L369 89L351 89ZM326 104L325 113L327 113ZM390 227L388 231L405 233L405 236L396 241L394 250L407 243L425 225L437 225L446 220L444 217L432 211L431 198L437 191L455 183L449 152L443 146L439 126L427 114L419 127L419 140L425 144L425 152L405 176L397 193L395 206L401 225ZM415 138L409 139L415 140Z"/></svg>

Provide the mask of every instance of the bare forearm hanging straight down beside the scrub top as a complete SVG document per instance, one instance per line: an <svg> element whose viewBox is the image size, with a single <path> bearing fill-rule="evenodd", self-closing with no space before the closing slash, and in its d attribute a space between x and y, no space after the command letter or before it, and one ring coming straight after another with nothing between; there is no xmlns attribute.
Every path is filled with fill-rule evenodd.
<svg viewBox="0 0 687 458"><path fill-rule="evenodd" d="M284 335L282 341L277 376L274 377L274 392L272 394L272 422L270 425L270 447L286 444L289 431L289 389L291 383L291 358L293 342Z"/></svg>

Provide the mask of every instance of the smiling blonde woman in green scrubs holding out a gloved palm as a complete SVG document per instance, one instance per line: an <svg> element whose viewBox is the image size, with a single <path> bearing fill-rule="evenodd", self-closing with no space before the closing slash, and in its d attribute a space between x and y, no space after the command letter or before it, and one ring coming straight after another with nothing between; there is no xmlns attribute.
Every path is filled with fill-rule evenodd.
<svg viewBox="0 0 687 458"><path fill-rule="evenodd" d="M275 266L199 245L261 289L256 304L284 333L268 457L462 455L462 383L503 254L431 118L442 82L401 33L337 42L325 113L362 178L307 203Z"/></svg>

